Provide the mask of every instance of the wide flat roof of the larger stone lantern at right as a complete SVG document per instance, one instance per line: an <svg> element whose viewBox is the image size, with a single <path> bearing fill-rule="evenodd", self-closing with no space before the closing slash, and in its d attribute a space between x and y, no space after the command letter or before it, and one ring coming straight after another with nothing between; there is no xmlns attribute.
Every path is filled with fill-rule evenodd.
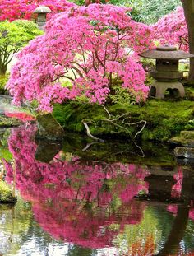
<svg viewBox="0 0 194 256"><path fill-rule="evenodd" d="M146 52L139 54L144 58L155 58L155 59L183 59L183 58L194 58L194 54L189 54L174 46L159 46L156 49L151 49Z"/></svg>

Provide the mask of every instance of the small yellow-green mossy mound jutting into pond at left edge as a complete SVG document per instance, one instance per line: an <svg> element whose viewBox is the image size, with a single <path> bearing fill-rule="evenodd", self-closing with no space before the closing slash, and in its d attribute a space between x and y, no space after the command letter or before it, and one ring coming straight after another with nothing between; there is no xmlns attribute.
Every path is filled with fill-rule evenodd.
<svg viewBox="0 0 194 256"><path fill-rule="evenodd" d="M12 190L2 180L0 180L0 202L3 202L3 203L16 202L16 198L12 196Z"/></svg>

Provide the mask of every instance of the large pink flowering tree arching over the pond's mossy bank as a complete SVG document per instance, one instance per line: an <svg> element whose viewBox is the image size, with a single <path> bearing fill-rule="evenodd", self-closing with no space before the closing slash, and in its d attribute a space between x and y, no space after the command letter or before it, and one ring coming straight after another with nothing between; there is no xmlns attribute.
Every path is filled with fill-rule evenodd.
<svg viewBox="0 0 194 256"><path fill-rule="evenodd" d="M145 71L137 54L152 47L152 30L113 5L69 7L53 16L45 35L17 55L7 88L16 105L36 100L39 110L83 100L104 104L114 86L146 100Z"/></svg>

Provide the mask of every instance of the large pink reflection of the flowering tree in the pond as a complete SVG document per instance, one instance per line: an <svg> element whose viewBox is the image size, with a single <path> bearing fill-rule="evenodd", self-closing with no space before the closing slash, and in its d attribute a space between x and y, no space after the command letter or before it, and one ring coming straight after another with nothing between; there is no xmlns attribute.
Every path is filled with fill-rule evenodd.
<svg viewBox="0 0 194 256"><path fill-rule="evenodd" d="M125 224L141 221L144 202L134 196L147 191L147 171L136 165L107 164L78 157L49 164L35 160L35 128L13 129L9 149L16 162L16 186L32 202L35 219L58 239L90 248L111 244ZM6 163L7 180L12 165ZM117 228L111 224L118 224Z"/></svg>

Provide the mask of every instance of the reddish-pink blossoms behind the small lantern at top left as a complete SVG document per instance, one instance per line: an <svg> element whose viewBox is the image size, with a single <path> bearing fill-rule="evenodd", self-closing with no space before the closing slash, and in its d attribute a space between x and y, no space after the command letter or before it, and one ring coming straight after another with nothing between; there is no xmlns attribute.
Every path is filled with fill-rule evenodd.
<svg viewBox="0 0 194 256"><path fill-rule="evenodd" d="M67 7L73 7L74 3L66 0L1 0L0 21L14 21L17 19L31 20L35 18L33 12L39 5L44 5L54 13L64 12Z"/></svg>

